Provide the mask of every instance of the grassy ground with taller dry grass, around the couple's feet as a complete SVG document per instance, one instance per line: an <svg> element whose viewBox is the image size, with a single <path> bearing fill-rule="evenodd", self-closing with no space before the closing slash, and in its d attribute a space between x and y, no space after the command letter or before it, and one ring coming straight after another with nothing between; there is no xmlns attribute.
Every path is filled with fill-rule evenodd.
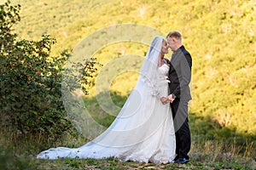
<svg viewBox="0 0 256 170"><path fill-rule="evenodd" d="M66 135L59 142L42 142L42 137L18 139L12 133L8 138L3 133L0 140L0 169L255 169L255 153L253 143L245 145L244 148L236 143L224 145L214 140L199 141L193 139L192 148L189 152L190 161L186 165L175 163L154 164L137 163L133 161L119 161L113 158L102 160L95 159L58 159L40 160L36 155L41 150L49 147L67 146L79 147L88 142L83 137L78 138ZM41 138L41 139L40 139Z"/></svg>

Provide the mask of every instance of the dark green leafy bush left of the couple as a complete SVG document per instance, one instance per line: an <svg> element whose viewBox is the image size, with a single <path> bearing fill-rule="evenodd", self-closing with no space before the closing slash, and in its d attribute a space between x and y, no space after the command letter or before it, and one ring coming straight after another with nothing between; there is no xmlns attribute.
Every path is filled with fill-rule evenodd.
<svg viewBox="0 0 256 170"><path fill-rule="evenodd" d="M61 99L64 65L70 54L63 51L50 57L55 39L48 35L39 41L16 40L11 28L20 20L20 6L8 1L0 7L0 124L3 130L22 136L61 139L63 132L73 127ZM77 64L81 76L74 78L76 86L90 84L87 77L95 72L95 60ZM83 90L87 93L84 85Z"/></svg>

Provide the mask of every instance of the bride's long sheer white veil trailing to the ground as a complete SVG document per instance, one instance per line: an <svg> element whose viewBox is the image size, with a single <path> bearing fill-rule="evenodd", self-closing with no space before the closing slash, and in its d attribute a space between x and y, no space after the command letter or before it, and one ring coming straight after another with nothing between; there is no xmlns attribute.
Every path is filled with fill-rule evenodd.
<svg viewBox="0 0 256 170"><path fill-rule="evenodd" d="M163 127L166 116L170 116L170 114L166 114L170 113L170 108L167 105L162 105L158 98L160 90L158 87L158 68L163 40L164 37L154 37L143 61L136 87L125 101L119 115L105 132L79 148L52 148L38 154L38 158L102 158L120 156L129 150L131 151L131 148L145 149L140 148L139 144L150 141L150 137L160 127ZM161 111L164 107L167 109ZM170 125L170 129L172 129L172 125ZM170 131L174 134L174 129ZM158 142L161 140L159 138L156 137L154 140ZM143 147L145 145L148 144L143 144Z"/></svg>

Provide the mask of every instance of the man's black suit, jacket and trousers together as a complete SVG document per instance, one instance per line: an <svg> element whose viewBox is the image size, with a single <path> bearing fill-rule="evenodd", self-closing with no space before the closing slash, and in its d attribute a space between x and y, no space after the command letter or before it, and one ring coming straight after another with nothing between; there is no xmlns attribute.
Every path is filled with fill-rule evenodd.
<svg viewBox="0 0 256 170"><path fill-rule="evenodd" d="M181 46L172 54L169 70L169 94L177 98L171 103L176 136L177 158L189 160L191 137L188 120L188 102L191 99L189 82L191 80L192 59L189 52Z"/></svg>

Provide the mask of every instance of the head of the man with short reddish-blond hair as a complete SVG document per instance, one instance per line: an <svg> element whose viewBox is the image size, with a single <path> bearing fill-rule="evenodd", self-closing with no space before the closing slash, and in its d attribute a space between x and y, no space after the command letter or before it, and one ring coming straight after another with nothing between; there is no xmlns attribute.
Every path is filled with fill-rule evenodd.
<svg viewBox="0 0 256 170"><path fill-rule="evenodd" d="M178 31L170 31L169 34L167 34L166 39L169 48L171 48L172 51L176 51L177 48L182 46L182 35Z"/></svg>

